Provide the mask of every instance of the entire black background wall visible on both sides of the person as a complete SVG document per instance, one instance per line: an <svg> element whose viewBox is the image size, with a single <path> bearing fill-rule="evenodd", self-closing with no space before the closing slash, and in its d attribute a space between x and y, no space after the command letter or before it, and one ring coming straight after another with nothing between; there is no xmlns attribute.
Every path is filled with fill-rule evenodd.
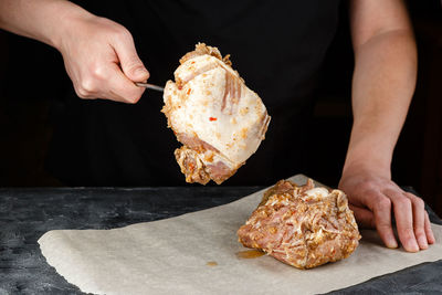
<svg viewBox="0 0 442 295"><path fill-rule="evenodd" d="M436 204L442 179L438 138L442 123L435 118L434 102L440 98L442 81L441 67L435 66L442 56L442 11L439 0L409 1L409 8L420 52L419 82L392 171L398 183L430 194L425 198ZM313 167L320 167L312 176L332 186L339 180L351 126L352 52L346 8L341 10L339 30L323 71L312 136L315 140L314 135L322 134L320 141L333 143L326 150L317 145L311 158ZM50 104L56 107L72 87L62 57L48 45L3 31L0 42L0 186L62 185L44 170L52 134Z"/></svg>

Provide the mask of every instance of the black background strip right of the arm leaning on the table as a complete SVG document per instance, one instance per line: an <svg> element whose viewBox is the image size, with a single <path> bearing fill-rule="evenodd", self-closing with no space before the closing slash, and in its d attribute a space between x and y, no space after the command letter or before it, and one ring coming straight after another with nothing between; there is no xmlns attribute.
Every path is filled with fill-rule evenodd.
<svg viewBox="0 0 442 295"><path fill-rule="evenodd" d="M422 196L442 214L442 2L410 1L419 50L418 85L394 170L413 179Z"/></svg>

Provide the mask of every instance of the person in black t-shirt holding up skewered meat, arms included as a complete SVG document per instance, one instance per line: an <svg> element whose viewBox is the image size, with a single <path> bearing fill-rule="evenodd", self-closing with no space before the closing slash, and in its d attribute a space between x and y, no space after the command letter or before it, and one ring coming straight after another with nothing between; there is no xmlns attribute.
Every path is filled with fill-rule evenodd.
<svg viewBox="0 0 442 295"><path fill-rule="evenodd" d="M134 82L165 83L179 56L198 41L232 53L273 117L266 140L235 177L263 185L302 166L308 147L299 129L312 109L316 72L335 33L339 4L287 2L82 3L126 29L69 1L0 0L0 25L57 49L77 96L85 99L137 103L144 89ZM402 191L390 173L415 85L412 29L400 0L352 0L349 12L354 125L339 188L360 225L376 228L388 247L397 247L393 213L400 242L417 252L434 242L429 217L423 201ZM154 93L136 105L67 98L52 169L71 183L178 181L182 177L171 157L175 139L160 118L160 99Z"/></svg>

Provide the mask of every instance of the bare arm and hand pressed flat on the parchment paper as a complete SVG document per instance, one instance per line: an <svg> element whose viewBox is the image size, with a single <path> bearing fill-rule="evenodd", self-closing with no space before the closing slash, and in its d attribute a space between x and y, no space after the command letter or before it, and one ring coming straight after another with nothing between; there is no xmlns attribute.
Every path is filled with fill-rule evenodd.
<svg viewBox="0 0 442 295"><path fill-rule="evenodd" d="M409 252L434 243L423 201L391 181L390 165L417 77L412 28L401 0L350 1L355 51L354 125L339 187L356 219L376 226L385 244Z"/></svg>

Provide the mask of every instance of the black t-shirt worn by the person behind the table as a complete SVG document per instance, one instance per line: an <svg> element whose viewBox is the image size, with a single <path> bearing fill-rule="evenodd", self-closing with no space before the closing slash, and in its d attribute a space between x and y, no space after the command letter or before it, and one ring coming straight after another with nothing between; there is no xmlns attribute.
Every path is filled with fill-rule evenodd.
<svg viewBox="0 0 442 295"><path fill-rule="evenodd" d="M77 1L125 25L150 72L165 85L178 60L204 42L233 67L272 116L266 139L225 185L271 185L305 169L307 122L317 75L334 38L339 0ZM147 89L135 105L84 101L73 89L59 108L48 167L73 186L185 185L179 147Z"/></svg>

